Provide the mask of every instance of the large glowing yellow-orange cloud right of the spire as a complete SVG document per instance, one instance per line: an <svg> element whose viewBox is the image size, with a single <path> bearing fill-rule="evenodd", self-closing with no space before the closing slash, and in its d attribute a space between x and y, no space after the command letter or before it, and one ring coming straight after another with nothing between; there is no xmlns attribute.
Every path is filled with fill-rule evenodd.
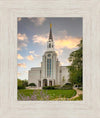
<svg viewBox="0 0 100 118"><path fill-rule="evenodd" d="M55 41L55 48L56 49L62 49L62 48L73 49L77 47L77 45L80 43L80 40L81 38L65 36L64 39L58 39Z"/></svg>

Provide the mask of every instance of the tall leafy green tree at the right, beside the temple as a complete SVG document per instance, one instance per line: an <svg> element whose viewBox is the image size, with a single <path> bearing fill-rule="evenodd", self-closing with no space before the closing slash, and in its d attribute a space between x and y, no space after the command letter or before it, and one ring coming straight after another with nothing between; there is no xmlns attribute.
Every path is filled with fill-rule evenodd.
<svg viewBox="0 0 100 118"><path fill-rule="evenodd" d="M71 62L71 66L68 67L70 75L69 82L71 82L73 85L78 84L82 86L82 40L80 41L78 47L79 49L73 51L69 57L69 61Z"/></svg>

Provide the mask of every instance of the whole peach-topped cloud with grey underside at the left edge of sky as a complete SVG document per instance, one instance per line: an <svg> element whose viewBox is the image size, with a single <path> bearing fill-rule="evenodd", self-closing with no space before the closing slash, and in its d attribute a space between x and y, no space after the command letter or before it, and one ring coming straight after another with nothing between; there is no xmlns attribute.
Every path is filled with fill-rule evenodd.
<svg viewBox="0 0 100 118"><path fill-rule="evenodd" d="M17 50L21 50L21 48L27 47L28 37L27 37L26 34L18 33L17 38L18 38L18 48L17 48Z"/></svg>

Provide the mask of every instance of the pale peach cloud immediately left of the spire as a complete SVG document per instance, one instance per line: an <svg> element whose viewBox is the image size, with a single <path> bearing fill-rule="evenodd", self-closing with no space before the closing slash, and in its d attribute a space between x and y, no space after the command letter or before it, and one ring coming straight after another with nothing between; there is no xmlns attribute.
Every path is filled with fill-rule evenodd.
<svg viewBox="0 0 100 118"><path fill-rule="evenodd" d="M33 42L34 43L40 43L42 45L44 45L47 41L48 41L48 36L47 35L34 35L33 36Z"/></svg>

